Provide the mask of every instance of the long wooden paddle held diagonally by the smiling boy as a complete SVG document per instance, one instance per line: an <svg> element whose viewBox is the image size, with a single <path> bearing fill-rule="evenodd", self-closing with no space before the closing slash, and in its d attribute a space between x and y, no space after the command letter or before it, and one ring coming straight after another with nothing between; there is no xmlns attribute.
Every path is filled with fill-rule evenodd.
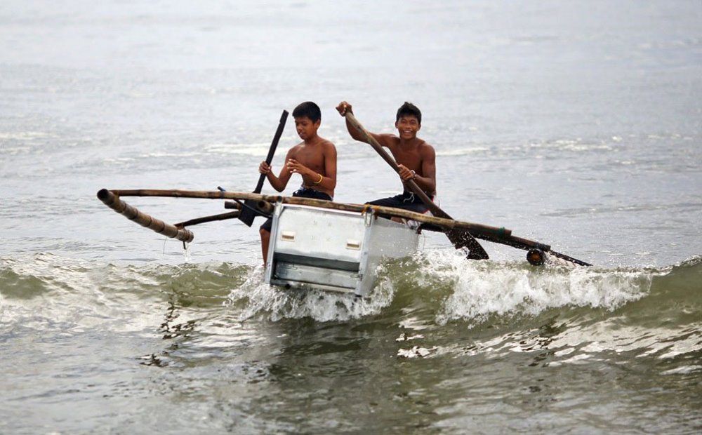
<svg viewBox="0 0 702 435"><path fill-rule="evenodd" d="M383 160L385 160L390 167L395 170L395 172L399 173L399 166L397 166L397 162L395 159L392 159L392 156L388 154L388 152L383 149L383 147L378 143L376 138L373 138L373 135L366 131L364 126L359 123L359 121L356 119L356 117L351 113L351 112L346 112L343 114L347 121L359 132L361 135L364 137L366 142L368 142L373 149L376 150L378 154L380 154L381 157L383 157ZM422 200L422 202L427 206L427 208L432 212L433 215L437 217L444 217L444 219L451 219L453 220L453 217L449 216L449 213L446 213L444 210L439 208L434 201L432 201L427 194L424 193L424 191L417 185L414 180L407 180L405 182L405 185L411 189L411 191L419 196L419 199ZM468 259L470 260L487 260L489 256L485 252L482 246L480 246L480 243L478 243L477 240L475 240L475 237L473 237L468 231L465 229L449 229L446 232L444 232L446 236L449 238L449 241L453 243L453 246L456 249L460 248L468 248L470 251L468 253Z"/></svg>

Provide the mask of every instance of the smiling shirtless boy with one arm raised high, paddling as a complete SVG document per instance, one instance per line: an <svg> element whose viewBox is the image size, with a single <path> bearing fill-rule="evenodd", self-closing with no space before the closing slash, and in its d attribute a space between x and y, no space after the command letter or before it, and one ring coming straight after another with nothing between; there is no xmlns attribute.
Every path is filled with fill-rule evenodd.
<svg viewBox="0 0 702 435"><path fill-rule="evenodd" d="M339 114L344 116L351 111L350 103L342 101L336 107ZM430 199L436 195L436 154L434 147L417 137L417 132L422 126L422 112L410 102L397 109L395 116L395 128L398 135L371 133L380 145L390 149L390 153L395 157L399 166L399 178L402 181L402 194L391 196L390 198L376 199L369 204L376 206L387 206L404 208L416 213L426 213L427 207L409 187L405 185L407 180L414 180ZM364 137L346 121L346 128L355 140L366 142ZM367 143L367 142L366 142Z"/></svg>

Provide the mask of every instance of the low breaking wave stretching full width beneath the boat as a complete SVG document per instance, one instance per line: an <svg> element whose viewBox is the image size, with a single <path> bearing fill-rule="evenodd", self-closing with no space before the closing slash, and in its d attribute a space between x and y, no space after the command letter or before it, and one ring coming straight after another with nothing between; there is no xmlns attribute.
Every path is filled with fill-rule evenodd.
<svg viewBox="0 0 702 435"><path fill-rule="evenodd" d="M263 269L230 263L113 265L51 254L0 258L2 307L81 300L106 305L170 300L191 309L226 306L237 319L348 321L411 312L418 323L465 323L482 329L554 312L587 309L631 323L677 326L699 322L701 257L668 267L531 267L524 262L466 261L430 250L383 263L367 299L282 290ZM34 301L34 302L32 302ZM38 302L37 302L38 301ZM8 310L5 311L7 316Z"/></svg>

